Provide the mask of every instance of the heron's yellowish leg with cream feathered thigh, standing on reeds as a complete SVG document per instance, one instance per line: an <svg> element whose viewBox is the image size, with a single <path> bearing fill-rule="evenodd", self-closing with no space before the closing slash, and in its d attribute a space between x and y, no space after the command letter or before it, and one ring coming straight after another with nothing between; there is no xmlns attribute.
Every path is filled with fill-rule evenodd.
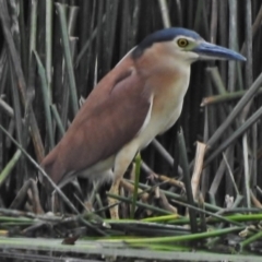
<svg viewBox="0 0 262 262"><path fill-rule="evenodd" d="M119 192L119 184L122 180L122 177L128 169L128 166L132 162L133 157L135 156L138 152L138 146L134 141L132 141L130 144L127 144L116 156L115 159L115 169L114 169L114 182L111 184L111 188L109 190L109 193L111 194L118 194ZM109 205L114 205L118 202L118 200L108 198ZM114 205L110 209L110 216L111 219L119 219L118 215L118 205Z"/></svg>

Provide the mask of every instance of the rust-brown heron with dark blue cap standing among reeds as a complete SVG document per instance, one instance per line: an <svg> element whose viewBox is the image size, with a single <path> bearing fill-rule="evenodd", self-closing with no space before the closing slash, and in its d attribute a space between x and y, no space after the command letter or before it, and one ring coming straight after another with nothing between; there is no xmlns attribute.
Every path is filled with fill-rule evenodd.
<svg viewBox="0 0 262 262"><path fill-rule="evenodd" d="M191 29L169 27L146 36L93 88L40 166L59 187L75 177L111 180L109 192L118 194L135 155L178 120L191 64L216 59L246 61ZM108 198L114 219L116 202Z"/></svg>

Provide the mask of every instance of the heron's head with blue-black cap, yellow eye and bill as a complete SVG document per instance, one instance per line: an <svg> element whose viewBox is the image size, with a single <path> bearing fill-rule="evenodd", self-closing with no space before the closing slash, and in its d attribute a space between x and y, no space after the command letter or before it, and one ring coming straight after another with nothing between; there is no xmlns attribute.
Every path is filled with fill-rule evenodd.
<svg viewBox="0 0 262 262"><path fill-rule="evenodd" d="M140 58L147 49L154 49L157 45L164 47L175 59L188 63L215 59L246 61L246 58L240 53L207 43L198 33L180 27L157 31L147 36L133 50L133 58Z"/></svg>

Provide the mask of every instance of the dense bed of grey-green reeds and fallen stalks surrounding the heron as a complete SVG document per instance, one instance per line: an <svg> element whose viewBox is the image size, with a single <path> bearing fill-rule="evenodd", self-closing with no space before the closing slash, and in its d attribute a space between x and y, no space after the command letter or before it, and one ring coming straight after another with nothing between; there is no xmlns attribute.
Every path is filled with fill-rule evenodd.
<svg viewBox="0 0 262 262"><path fill-rule="evenodd" d="M0 20L2 258L259 261L260 0L0 0ZM38 164L95 84L169 26L194 29L247 62L192 66L179 121L134 159L120 196L110 195L124 219L108 219L109 184L84 179L58 190L47 213Z"/></svg>

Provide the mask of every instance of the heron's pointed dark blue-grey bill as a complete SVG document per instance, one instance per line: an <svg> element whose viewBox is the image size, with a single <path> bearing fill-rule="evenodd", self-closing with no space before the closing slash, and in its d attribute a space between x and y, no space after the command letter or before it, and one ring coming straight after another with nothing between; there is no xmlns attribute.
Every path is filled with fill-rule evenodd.
<svg viewBox="0 0 262 262"><path fill-rule="evenodd" d="M239 61L247 60L239 52L236 52L234 50L230 50L222 46L210 44L207 41L200 43L199 46L196 46L193 49L193 51L199 55L200 60L212 60L212 59L239 60Z"/></svg>

